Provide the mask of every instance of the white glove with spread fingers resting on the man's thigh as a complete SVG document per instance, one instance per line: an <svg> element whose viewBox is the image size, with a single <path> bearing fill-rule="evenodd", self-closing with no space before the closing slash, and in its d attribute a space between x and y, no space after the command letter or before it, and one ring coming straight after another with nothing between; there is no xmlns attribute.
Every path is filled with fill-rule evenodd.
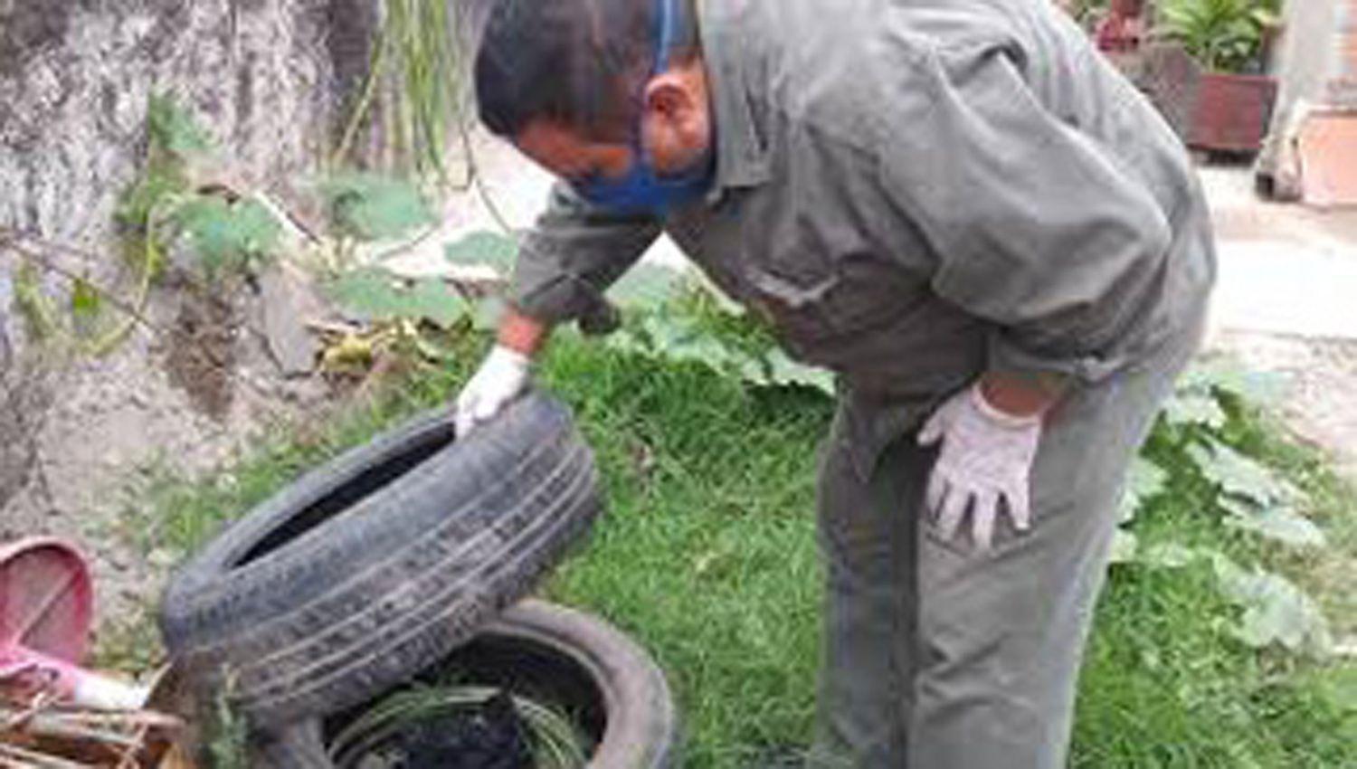
<svg viewBox="0 0 1357 769"><path fill-rule="evenodd" d="M928 479L928 511L944 540L953 538L970 509L972 541L988 551L999 500L1007 502L1014 528L1031 526L1029 488L1041 441L1041 416L1014 416L991 406L973 385L943 403L919 431L923 446L942 441Z"/></svg>

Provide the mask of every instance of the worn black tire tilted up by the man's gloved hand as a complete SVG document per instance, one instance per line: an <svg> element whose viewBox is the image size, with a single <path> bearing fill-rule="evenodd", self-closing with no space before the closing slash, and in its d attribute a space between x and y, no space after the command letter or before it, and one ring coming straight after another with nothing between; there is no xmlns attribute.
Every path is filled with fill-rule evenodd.
<svg viewBox="0 0 1357 769"><path fill-rule="evenodd" d="M362 703L521 598L600 511L565 407L529 393L465 441L425 414L252 510L171 582L160 627L261 728Z"/></svg>

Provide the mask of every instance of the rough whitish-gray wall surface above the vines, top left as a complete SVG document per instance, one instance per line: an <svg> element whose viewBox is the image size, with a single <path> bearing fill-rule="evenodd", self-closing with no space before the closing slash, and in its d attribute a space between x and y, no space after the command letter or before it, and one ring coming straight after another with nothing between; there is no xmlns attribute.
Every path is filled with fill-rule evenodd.
<svg viewBox="0 0 1357 769"><path fill-rule="evenodd" d="M107 232L153 90L193 107L248 176L307 167L334 115L332 75L354 69L354 57L337 66L345 52L328 35L331 19L354 16L331 5L0 0L0 222L62 239Z"/></svg>

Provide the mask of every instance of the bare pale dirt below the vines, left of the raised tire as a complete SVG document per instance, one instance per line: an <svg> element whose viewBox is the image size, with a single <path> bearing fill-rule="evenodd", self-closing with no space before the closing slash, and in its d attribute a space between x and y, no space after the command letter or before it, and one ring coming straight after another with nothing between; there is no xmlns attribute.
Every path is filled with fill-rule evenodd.
<svg viewBox="0 0 1357 769"><path fill-rule="evenodd" d="M43 366L27 387L47 392L45 408L33 410L24 434L11 437L27 443L23 483L0 505L0 541L50 534L87 553L104 628L153 605L174 560L141 552L123 530L142 473L206 472L270 422L296 418L327 396L320 381L284 378L231 304L170 293L155 305L164 327L194 343L142 331L104 358ZM204 363L204 349L229 369Z"/></svg>

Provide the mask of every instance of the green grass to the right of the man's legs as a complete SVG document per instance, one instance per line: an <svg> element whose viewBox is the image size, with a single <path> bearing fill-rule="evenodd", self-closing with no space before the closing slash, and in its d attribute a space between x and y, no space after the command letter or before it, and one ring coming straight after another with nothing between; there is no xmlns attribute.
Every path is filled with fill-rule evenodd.
<svg viewBox="0 0 1357 769"><path fill-rule="evenodd" d="M1143 517L1143 541L1253 548L1186 505ZM1343 713L1326 684L1343 669L1244 648L1231 633L1235 613L1205 563L1114 567L1080 681L1072 765L1357 766L1357 711Z"/></svg>

